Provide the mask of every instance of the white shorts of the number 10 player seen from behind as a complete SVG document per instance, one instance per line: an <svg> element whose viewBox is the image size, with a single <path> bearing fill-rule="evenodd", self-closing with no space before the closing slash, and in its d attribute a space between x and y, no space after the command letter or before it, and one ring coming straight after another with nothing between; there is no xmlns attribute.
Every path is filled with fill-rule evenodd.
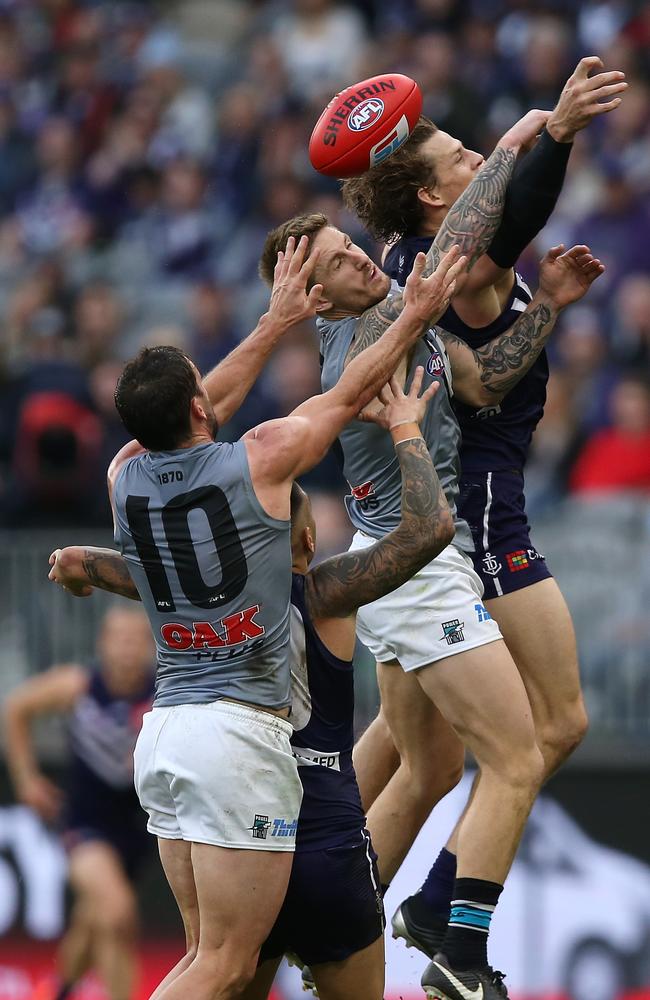
<svg viewBox="0 0 650 1000"><path fill-rule="evenodd" d="M135 747L147 829L167 840L293 851L302 785L286 719L230 701L153 708Z"/></svg>

